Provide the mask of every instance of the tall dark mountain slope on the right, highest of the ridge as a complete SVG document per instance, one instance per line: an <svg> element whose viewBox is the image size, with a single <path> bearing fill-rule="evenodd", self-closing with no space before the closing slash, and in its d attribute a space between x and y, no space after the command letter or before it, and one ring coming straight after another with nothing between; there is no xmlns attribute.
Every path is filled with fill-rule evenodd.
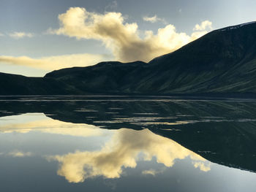
<svg viewBox="0 0 256 192"><path fill-rule="evenodd" d="M256 23L212 31L149 64L161 66L160 92L255 92Z"/></svg>

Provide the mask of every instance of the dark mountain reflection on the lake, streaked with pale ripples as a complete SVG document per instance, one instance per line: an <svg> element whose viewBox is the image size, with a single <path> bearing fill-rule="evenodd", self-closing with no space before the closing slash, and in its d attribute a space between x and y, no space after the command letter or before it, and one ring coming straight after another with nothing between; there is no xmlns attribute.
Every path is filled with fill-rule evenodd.
<svg viewBox="0 0 256 192"><path fill-rule="evenodd" d="M209 161L256 172L256 104L252 100L66 98L2 101L1 116L44 112L48 117L102 128L148 128ZM43 98L39 98L43 99ZM63 98L62 98L63 99ZM72 101L70 101L70 99ZM75 100L83 101L75 101ZM113 99L113 98L112 98ZM26 106L26 107L24 107ZM65 131L67 131L65 129Z"/></svg>

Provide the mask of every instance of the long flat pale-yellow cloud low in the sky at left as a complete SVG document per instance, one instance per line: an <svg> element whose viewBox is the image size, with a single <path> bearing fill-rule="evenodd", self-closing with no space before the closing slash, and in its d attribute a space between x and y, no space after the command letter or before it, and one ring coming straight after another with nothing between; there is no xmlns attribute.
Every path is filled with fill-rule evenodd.
<svg viewBox="0 0 256 192"><path fill-rule="evenodd" d="M91 66L100 61L109 60L108 55L97 54L71 54L56 55L42 58L30 58L27 56L12 57L0 55L0 63L17 64L21 66L30 66L38 69L56 70L72 66Z"/></svg>

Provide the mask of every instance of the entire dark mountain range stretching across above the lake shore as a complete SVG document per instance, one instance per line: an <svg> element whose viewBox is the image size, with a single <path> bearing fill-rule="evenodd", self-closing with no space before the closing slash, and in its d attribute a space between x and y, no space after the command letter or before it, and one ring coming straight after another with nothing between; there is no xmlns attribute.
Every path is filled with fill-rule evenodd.
<svg viewBox="0 0 256 192"><path fill-rule="evenodd" d="M102 62L0 80L1 94L256 93L256 22L211 31L148 64Z"/></svg>

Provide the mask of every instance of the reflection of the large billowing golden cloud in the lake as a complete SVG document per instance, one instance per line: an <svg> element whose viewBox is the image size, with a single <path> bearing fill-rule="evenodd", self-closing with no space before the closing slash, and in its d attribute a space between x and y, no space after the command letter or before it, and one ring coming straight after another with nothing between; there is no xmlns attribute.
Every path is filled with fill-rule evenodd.
<svg viewBox="0 0 256 192"><path fill-rule="evenodd" d="M173 166L176 159L184 159L188 156L195 162L199 161L203 164L205 161L200 155L187 150L173 140L153 134L147 129L134 131L124 128L116 131L102 150L77 151L48 159L59 161L59 175L64 176L69 182L79 183L89 177L120 177L123 167L137 166L136 161L140 153L143 153L144 161L156 157L159 164L167 167ZM151 174L155 172L152 171Z"/></svg>

